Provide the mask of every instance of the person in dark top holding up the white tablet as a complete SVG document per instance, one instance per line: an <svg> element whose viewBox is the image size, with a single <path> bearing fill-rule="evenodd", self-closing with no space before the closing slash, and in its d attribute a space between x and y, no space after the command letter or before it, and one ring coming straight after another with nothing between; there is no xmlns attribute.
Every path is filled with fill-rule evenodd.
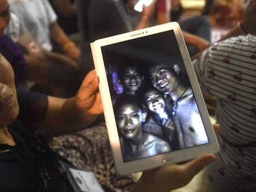
<svg viewBox="0 0 256 192"><path fill-rule="evenodd" d="M58 156L49 149L46 140L85 128L102 113L95 71L88 73L74 98L23 93L25 100L18 102L12 67L1 54L0 69L0 96L3 98L0 107L0 190L73 191L66 175L60 172ZM18 96L21 94L18 92ZM22 102L24 108L19 107ZM19 112L19 109L25 111ZM216 125L216 128L219 127ZM148 170L143 172L133 191L179 188L212 161L215 155L203 154L185 164ZM164 179L166 175L168 180Z"/></svg>

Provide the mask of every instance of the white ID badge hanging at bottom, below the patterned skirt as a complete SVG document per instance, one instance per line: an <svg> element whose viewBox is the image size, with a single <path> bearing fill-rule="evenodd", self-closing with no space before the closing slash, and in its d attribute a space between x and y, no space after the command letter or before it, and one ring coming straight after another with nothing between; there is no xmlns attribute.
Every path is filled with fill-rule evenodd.
<svg viewBox="0 0 256 192"><path fill-rule="evenodd" d="M67 173L69 183L75 192L104 192L93 172L77 169L74 165L59 161Z"/></svg>

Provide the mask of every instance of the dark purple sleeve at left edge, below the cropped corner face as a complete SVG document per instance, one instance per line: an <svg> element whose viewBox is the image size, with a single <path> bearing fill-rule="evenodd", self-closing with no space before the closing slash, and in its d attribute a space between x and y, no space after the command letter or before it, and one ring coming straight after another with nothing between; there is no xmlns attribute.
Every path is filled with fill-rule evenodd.
<svg viewBox="0 0 256 192"><path fill-rule="evenodd" d="M12 65L14 69L15 85L25 80L27 63L23 57L22 51L17 43L11 40L9 36L3 35L0 38L0 52Z"/></svg>

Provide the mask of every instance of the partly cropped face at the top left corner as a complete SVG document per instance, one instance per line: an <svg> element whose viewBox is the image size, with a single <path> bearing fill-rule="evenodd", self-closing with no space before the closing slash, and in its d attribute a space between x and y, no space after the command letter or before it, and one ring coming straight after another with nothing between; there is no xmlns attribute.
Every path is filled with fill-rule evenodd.
<svg viewBox="0 0 256 192"><path fill-rule="evenodd" d="M7 0L0 0L0 38L4 34L4 28L10 20L10 11Z"/></svg>

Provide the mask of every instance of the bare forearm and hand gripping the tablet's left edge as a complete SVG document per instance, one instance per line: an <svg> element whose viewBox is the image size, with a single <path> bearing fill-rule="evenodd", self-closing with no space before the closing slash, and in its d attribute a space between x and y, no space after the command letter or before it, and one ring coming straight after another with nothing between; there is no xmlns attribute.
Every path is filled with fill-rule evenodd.
<svg viewBox="0 0 256 192"><path fill-rule="evenodd" d="M84 78L76 96L70 99L48 96L49 104L46 117L36 123L35 128L46 138L85 128L103 112L99 79L95 70Z"/></svg>

